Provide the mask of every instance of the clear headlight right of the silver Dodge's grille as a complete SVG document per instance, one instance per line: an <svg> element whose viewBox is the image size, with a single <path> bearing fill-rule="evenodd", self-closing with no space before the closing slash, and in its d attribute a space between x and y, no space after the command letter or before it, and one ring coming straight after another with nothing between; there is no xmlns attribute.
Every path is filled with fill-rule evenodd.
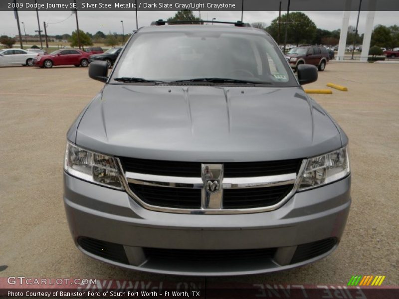
<svg viewBox="0 0 399 299"><path fill-rule="evenodd" d="M298 190L305 190L337 181L351 172L347 147L309 158L300 178Z"/></svg>

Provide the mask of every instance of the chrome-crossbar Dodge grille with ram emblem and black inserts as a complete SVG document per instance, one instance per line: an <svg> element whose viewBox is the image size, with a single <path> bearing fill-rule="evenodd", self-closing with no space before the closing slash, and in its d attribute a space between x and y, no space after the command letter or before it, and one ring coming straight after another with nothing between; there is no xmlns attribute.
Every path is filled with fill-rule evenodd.
<svg viewBox="0 0 399 299"><path fill-rule="evenodd" d="M145 208L238 214L280 207L296 190L302 159L199 163L117 158L127 192Z"/></svg>

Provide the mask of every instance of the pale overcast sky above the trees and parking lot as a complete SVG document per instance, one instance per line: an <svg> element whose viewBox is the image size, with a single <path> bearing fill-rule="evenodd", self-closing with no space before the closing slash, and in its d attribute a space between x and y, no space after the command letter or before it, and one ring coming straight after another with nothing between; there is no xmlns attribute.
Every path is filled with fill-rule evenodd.
<svg viewBox="0 0 399 299"><path fill-rule="evenodd" d="M167 19L176 11L139 11L139 27L147 26L153 20ZM197 16L199 11L194 12ZM322 29L335 30L341 28L342 11L304 11ZM357 11L351 12L350 25L356 26ZM68 17L69 16L69 17ZM265 22L267 25L278 16L278 11L244 11L244 22ZM364 32L367 11L362 11L359 20L359 33ZM39 11L40 26L48 23L47 34L56 35L76 30L75 15L70 11ZM135 11L78 11L79 28L85 32L102 31L122 33L123 20L125 33L136 29ZM201 11L202 19L216 18L220 21L236 21L241 18L241 11ZM19 11L19 21L24 22L26 34L34 34L37 30L35 11ZM56 22L59 22L55 24ZM376 11L374 25L399 25L399 11ZM43 29L43 28L41 28ZM23 34L23 25L21 24ZM0 11L0 34L14 36L18 34L13 11Z"/></svg>

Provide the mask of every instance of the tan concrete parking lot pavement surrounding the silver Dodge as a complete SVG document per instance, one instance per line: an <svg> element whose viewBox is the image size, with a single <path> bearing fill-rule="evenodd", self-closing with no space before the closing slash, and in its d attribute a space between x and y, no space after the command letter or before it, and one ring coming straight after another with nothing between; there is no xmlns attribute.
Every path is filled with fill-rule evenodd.
<svg viewBox="0 0 399 299"><path fill-rule="evenodd" d="M208 281L346 284L352 275L385 275L384 285L399 285L398 71L391 64L330 63L306 86L349 89L312 95L350 139L353 203L338 249L290 271ZM109 266L72 242L62 202L65 135L101 87L87 68L0 67L0 266L8 266L0 277L192 280Z"/></svg>

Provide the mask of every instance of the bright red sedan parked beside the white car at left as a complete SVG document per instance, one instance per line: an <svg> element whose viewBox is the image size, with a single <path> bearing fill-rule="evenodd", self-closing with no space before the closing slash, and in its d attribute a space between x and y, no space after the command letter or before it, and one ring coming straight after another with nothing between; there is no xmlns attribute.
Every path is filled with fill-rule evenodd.
<svg viewBox="0 0 399 299"><path fill-rule="evenodd" d="M37 56L34 65L50 68L53 65L74 65L87 67L90 54L78 49L56 50L48 55Z"/></svg>

